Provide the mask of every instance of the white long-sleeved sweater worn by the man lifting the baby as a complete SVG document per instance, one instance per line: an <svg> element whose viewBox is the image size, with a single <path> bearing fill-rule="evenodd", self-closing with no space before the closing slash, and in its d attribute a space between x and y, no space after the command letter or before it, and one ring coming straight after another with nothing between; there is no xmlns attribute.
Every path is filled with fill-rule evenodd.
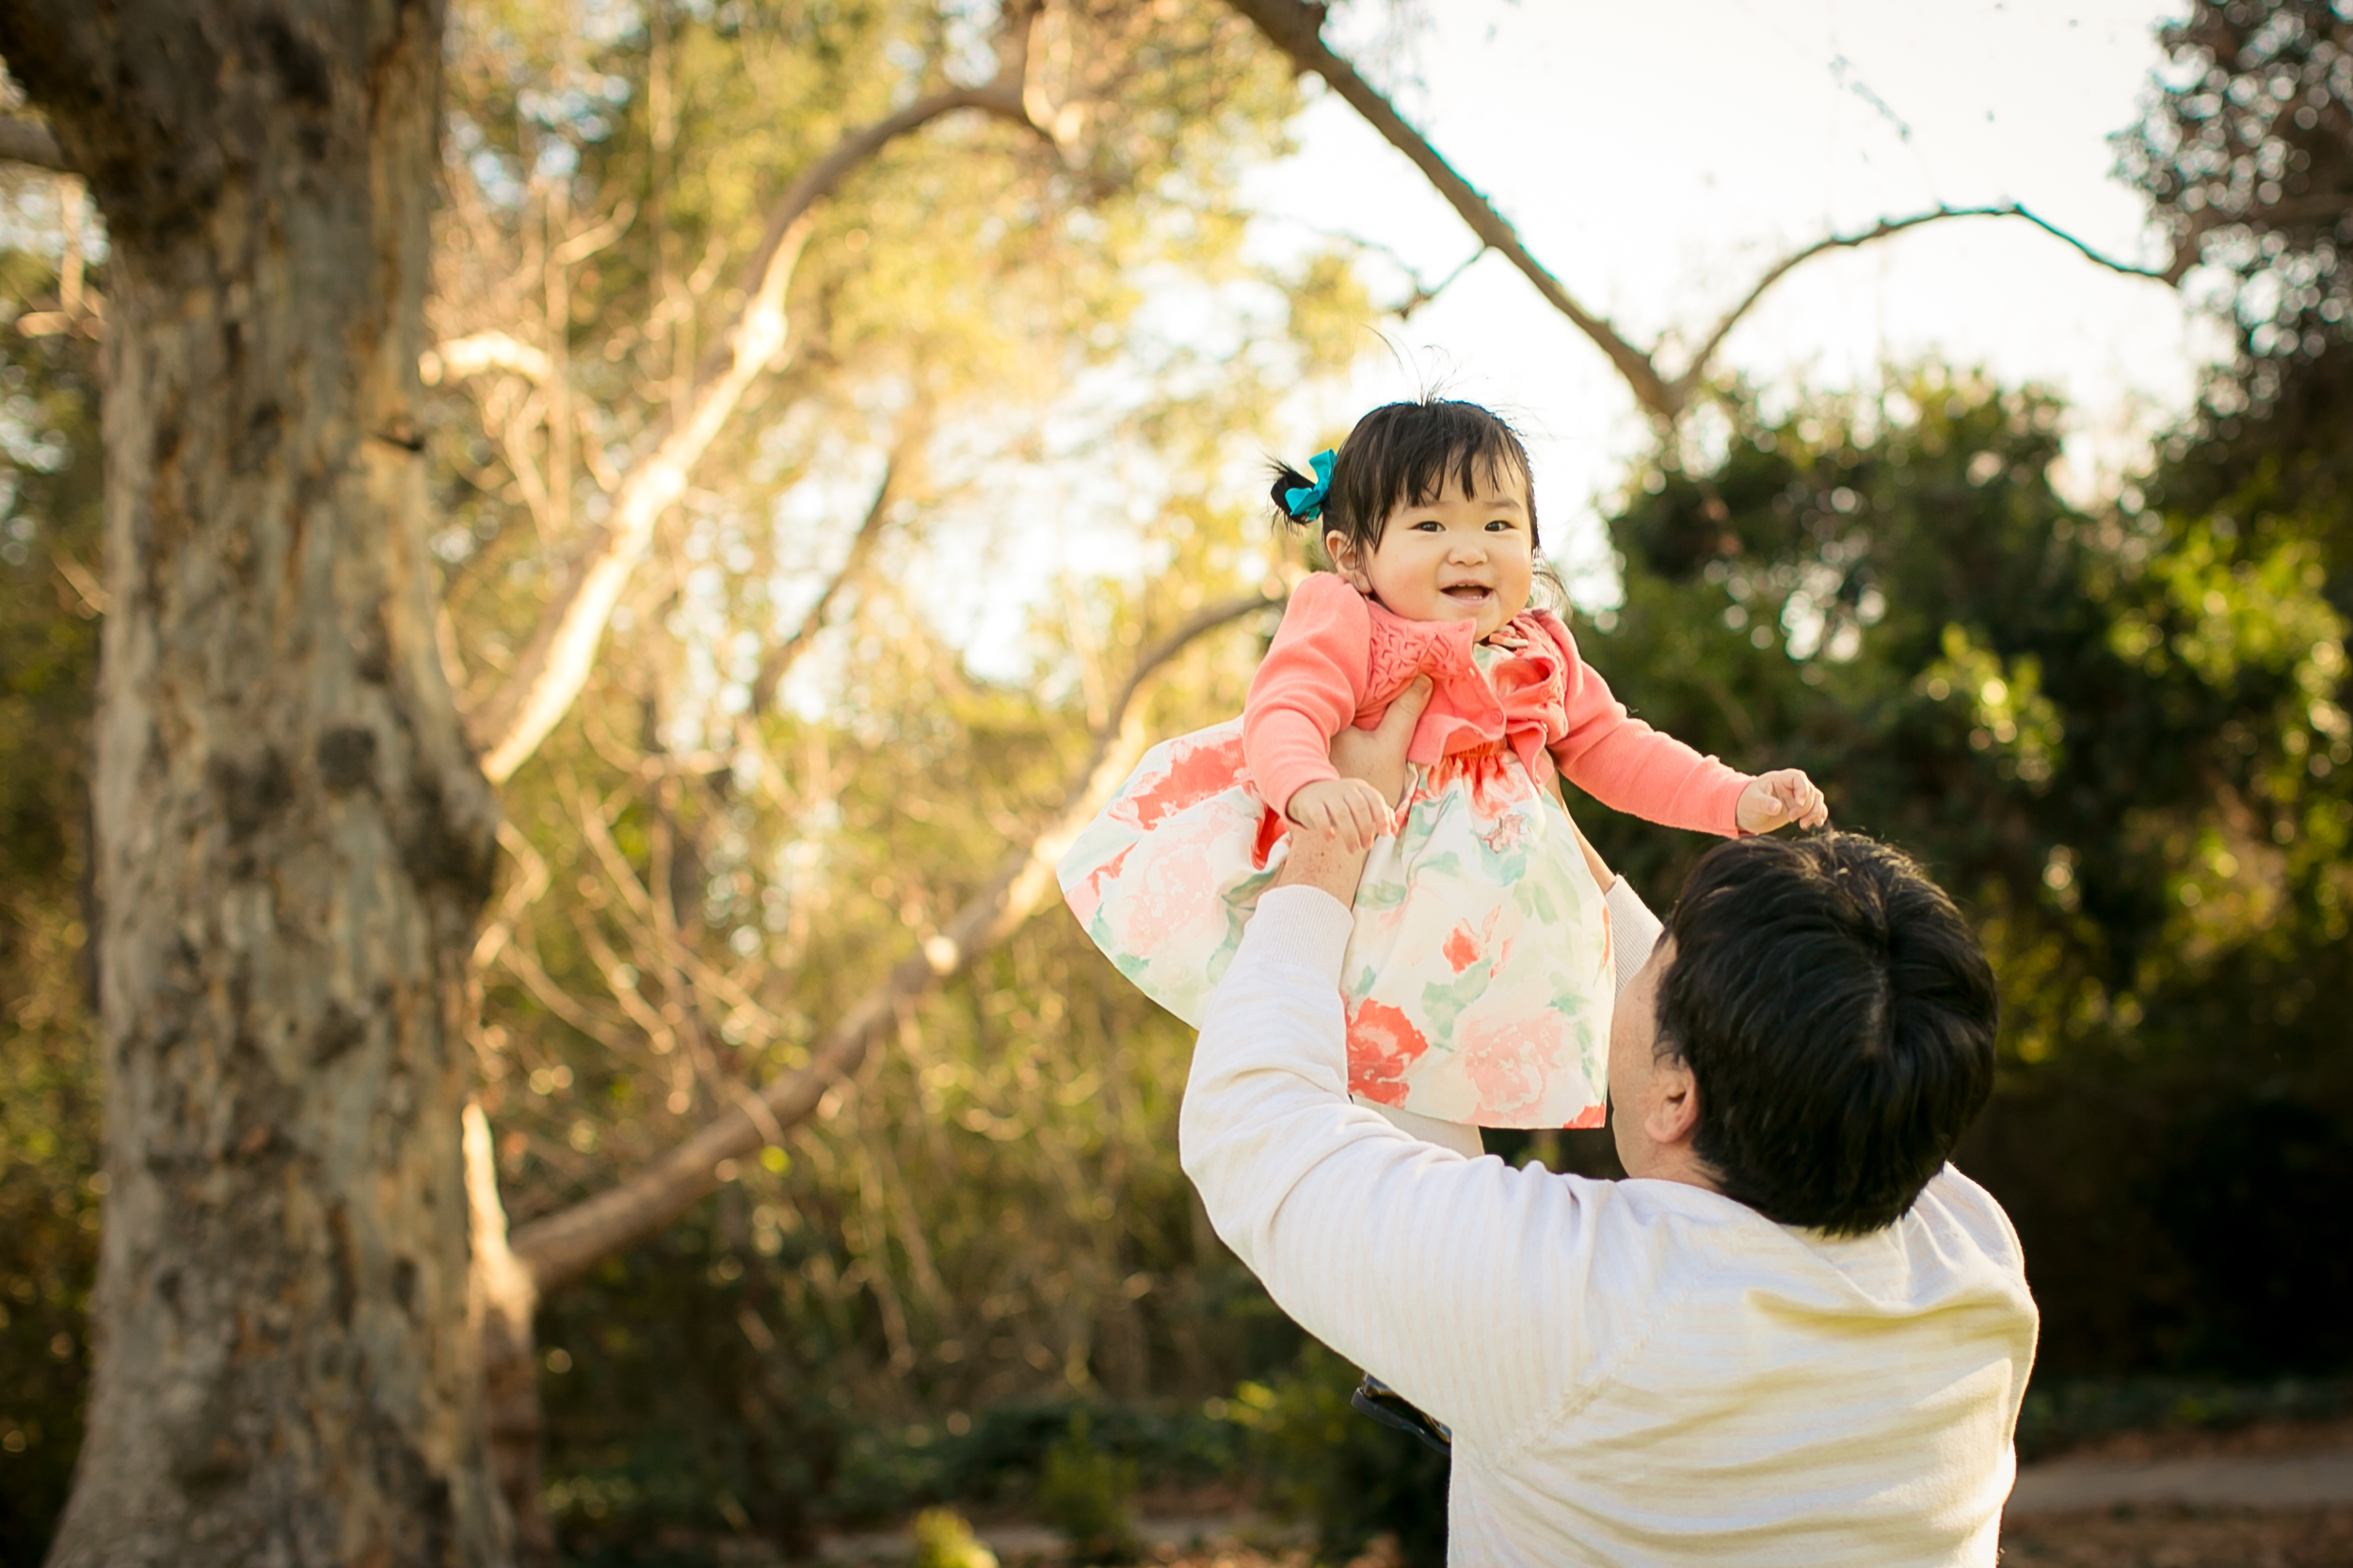
<svg viewBox="0 0 2353 1568"><path fill-rule="evenodd" d="M1259 899L1179 1151L1275 1302L1454 1429L1449 1563L1995 1561L2035 1307L1981 1187L1946 1168L1833 1241L1417 1142L1346 1097L1348 925Z"/></svg>

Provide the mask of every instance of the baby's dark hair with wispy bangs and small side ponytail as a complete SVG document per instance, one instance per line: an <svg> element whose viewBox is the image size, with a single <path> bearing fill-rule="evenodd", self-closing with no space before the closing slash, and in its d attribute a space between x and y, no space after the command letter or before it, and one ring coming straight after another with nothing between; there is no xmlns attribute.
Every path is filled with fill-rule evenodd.
<svg viewBox="0 0 2353 1568"><path fill-rule="evenodd" d="M1388 513L1400 506L1435 501L1452 478L1466 494L1480 490L1485 480L1492 490L1504 490L1513 478L1527 485L1527 534L1537 542L1537 487L1527 461L1527 447L1511 424L1478 403L1452 403L1447 398L1421 398L1419 403L1388 403L1348 431L1332 459L1332 490L1325 494L1320 518L1294 516L1285 492L1313 485L1306 473L1289 464L1275 464L1275 511L1292 527L1318 527L1341 532L1360 553L1381 544L1381 527Z"/></svg>

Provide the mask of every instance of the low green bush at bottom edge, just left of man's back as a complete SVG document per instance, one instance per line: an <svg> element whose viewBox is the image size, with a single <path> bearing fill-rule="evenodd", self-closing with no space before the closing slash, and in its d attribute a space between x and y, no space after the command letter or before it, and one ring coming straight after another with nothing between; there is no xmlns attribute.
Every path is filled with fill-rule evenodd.
<svg viewBox="0 0 2353 1568"><path fill-rule="evenodd" d="M1395 1535L1407 1563L1447 1561L1447 1457L1348 1406L1360 1373L1308 1340L1299 1361L1235 1389L1226 1413L1252 1434L1268 1500L1315 1521L1332 1559Z"/></svg>

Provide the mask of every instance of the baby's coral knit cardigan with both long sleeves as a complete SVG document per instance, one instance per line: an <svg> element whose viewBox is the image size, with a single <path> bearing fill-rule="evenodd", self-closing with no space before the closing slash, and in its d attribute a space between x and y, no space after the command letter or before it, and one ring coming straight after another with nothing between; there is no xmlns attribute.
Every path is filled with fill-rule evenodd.
<svg viewBox="0 0 2353 1568"><path fill-rule="evenodd" d="M1471 622L1409 622L1346 579L1315 572L1292 593L1242 706L1242 756L1259 798L1285 817L1301 784L1337 779L1332 737L1372 727L1414 676L1431 706L1407 758L1508 744L1544 786L1553 768L1602 805L1701 833L1739 833L1748 775L1659 735L1577 657L1558 614L1527 610L1492 640L1513 647L1489 673L1471 662Z"/></svg>

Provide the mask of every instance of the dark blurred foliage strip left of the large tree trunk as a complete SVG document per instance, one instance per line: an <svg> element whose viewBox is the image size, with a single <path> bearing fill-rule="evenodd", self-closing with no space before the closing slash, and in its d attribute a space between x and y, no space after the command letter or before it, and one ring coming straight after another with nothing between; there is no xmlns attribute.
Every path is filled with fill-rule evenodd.
<svg viewBox="0 0 2353 1568"><path fill-rule="evenodd" d="M54 308L54 259L0 252L0 315ZM85 1008L99 487L94 344L0 327L0 1563L47 1549L89 1377L104 1194Z"/></svg>

